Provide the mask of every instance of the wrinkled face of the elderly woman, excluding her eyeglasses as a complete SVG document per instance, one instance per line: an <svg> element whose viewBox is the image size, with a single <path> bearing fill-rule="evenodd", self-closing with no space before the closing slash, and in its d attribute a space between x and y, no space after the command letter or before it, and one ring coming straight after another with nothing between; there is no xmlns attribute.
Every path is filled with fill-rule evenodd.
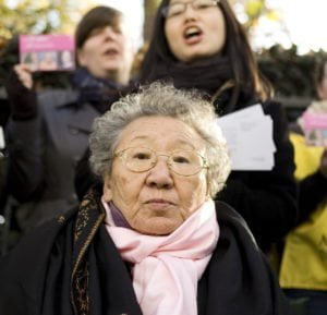
<svg viewBox="0 0 327 315"><path fill-rule="evenodd" d="M185 123L167 117L138 118L121 134L116 152L147 147L162 156L150 170L133 172L119 157L105 179L104 196L122 211L133 229L169 234L207 198L206 170L183 177L170 170L167 156L175 150L204 154L204 141Z"/></svg>

